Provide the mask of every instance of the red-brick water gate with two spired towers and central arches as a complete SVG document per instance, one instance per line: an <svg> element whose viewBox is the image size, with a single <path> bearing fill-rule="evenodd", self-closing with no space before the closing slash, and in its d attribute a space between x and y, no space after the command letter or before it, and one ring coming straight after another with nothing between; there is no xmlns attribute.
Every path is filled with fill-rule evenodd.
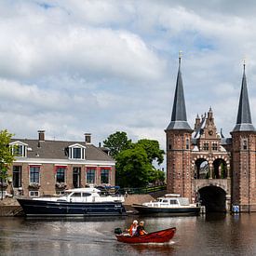
<svg viewBox="0 0 256 256"><path fill-rule="evenodd" d="M181 56L167 135L168 193L191 201L200 199L209 211L256 211L256 130L252 125L244 73L231 138L225 138L214 123L211 107L197 115L195 127L187 122L182 84Z"/></svg>

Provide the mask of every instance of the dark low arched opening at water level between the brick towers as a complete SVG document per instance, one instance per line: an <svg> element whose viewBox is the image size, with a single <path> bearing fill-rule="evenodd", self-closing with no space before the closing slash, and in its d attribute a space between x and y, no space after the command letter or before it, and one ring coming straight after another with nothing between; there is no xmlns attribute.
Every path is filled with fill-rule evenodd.
<svg viewBox="0 0 256 256"><path fill-rule="evenodd" d="M225 212L226 192L218 186L205 186L198 190L199 200L207 212Z"/></svg>

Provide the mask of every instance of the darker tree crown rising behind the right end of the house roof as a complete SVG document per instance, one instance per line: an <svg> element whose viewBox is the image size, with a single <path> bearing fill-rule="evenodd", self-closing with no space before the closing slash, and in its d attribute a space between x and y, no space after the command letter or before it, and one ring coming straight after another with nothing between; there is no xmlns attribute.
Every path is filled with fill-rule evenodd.
<svg viewBox="0 0 256 256"><path fill-rule="evenodd" d="M131 140L128 140L126 132L116 131L103 141L103 145L110 149L110 155L115 158L121 151L131 147Z"/></svg>

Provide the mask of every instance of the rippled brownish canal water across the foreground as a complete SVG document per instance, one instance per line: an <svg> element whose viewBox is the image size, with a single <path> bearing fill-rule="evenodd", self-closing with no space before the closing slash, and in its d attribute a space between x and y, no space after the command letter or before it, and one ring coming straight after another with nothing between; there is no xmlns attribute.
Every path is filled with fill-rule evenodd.
<svg viewBox="0 0 256 256"><path fill-rule="evenodd" d="M133 219L148 232L176 226L168 244L123 244L116 227ZM0 218L0 255L256 255L255 214L29 220Z"/></svg>

